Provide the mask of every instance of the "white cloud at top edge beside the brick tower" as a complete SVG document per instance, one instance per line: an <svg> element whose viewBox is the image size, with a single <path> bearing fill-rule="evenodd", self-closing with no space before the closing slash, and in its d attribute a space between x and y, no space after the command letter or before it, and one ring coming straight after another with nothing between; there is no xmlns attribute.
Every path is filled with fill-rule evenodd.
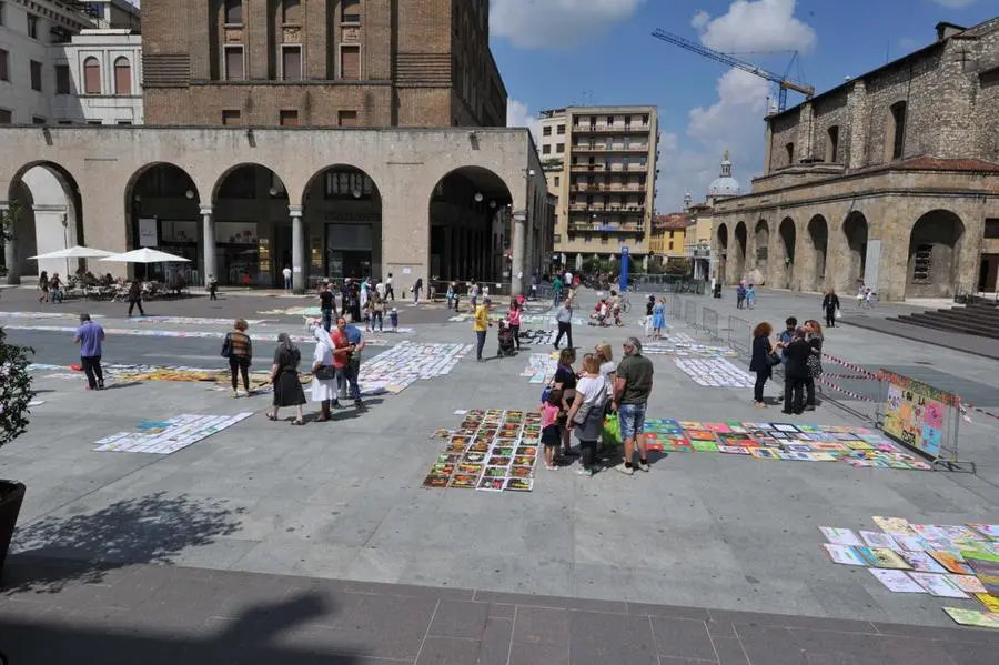
<svg viewBox="0 0 999 665"><path fill-rule="evenodd" d="M645 0L493 0L490 31L521 49L561 49L626 21Z"/></svg>

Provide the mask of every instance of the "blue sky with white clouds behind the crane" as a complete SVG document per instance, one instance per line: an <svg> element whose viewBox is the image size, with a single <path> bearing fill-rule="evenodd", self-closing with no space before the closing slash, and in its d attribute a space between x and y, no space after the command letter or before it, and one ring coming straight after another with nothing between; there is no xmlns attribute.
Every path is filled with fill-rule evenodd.
<svg viewBox="0 0 999 665"><path fill-rule="evenodd" d="M654 28L784 73L823 91L926 46L939 21L971 26L999 0L492 0L493 54L509 92L508 123L541 109L656 104L660 175L656 208L702 200L728 148L749 190L763 170L763 79L654 39ZM788 105L803 98L788 93Z"/></svg>

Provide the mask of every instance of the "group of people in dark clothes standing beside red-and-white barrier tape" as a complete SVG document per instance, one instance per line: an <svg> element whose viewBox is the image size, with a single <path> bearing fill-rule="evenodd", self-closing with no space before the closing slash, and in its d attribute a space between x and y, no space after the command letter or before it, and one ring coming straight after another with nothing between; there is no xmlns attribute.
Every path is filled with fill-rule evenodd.
<svg viewBox="0 0 999 665"><path fill-rule="evenodd" d="M756 373L753 389L753 402L757 409L766 409L764 386L773 379L774 367L784 370L784 409L785 414L801 414L815 411L815 381L823 374L823 326L818 321L809 319L803 326L798 320L789 316L786 329L771 339L774 326L763 321L753 331L753 355L749 371Z"/></svg>

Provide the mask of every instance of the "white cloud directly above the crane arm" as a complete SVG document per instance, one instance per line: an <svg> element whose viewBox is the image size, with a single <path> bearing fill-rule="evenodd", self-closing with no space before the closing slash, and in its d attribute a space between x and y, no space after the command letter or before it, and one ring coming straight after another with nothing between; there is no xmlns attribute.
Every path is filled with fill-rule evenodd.
<svg viewBox="0 0 999 665"><path fill-rule="evenodd" d="M950 0L955 1L955 0ZM796 0L736 0L728 12L712 19L699 11L692 24L704 46L724 52L815 48L818 37L810 26L795 18Z"/></svg>

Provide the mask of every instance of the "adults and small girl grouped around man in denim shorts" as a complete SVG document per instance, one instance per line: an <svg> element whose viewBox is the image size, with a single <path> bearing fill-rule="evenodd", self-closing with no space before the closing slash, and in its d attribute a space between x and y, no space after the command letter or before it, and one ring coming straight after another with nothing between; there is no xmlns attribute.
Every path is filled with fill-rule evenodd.
<svg viewBox="0 0 999 665"><path fill-rule="evenodd" d="M627 337L623 347L624 359L615 365L610 345L598 343L593 353L583 356L578 371L573 367L574 349L564 349L558 354L558 367L538 407L548 471L556 471L561 462L579 456L572 446L575 434L582 452L577 473L596 474L601 462L597 444L604 434L605 419L612 413L617 414L624 443L623 461L614 468L625 475L633 475L636 467L649 470L644 431L654 367L642 355L642 342L636 337Z"/></svg>

